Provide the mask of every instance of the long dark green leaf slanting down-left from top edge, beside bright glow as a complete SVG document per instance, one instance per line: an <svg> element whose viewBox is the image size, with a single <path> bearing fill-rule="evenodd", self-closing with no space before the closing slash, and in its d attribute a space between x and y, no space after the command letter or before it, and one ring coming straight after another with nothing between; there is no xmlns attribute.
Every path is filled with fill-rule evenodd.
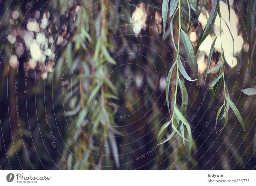
<svg viewBox="0 0 256 186"><path fill-rule="evenodd" d="M212 10L209 16L209 19L206 23L206 26L203 30L203 33L201 34L198 43L196 45L196 52L199 49L199 46L201 45L201 43L203 43L203 41L205 40L205 38L207 37L207 35L209 35L209 31L212 27L214 27L214 22L218 13L218 7L220 4L220 0L213 0L212 2Z"/></svg>

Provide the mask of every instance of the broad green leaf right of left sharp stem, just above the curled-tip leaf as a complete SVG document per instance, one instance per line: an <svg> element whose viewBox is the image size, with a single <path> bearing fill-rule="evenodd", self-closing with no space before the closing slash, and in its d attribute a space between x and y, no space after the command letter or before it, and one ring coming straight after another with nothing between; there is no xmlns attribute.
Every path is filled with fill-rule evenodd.
<svg viewBox="0 0 256 186"><path fill-rule="evenodd" d="M183 44L185 46L185 49L187 51L188 59L193 64L194 72L196 74L197 79L199 79L199 77L198 77L198 65L197 65L195 54L194 54L193 45L192 45L187 33L184 32L182 29L181 29L181 38L182 38Z"/></svg>

